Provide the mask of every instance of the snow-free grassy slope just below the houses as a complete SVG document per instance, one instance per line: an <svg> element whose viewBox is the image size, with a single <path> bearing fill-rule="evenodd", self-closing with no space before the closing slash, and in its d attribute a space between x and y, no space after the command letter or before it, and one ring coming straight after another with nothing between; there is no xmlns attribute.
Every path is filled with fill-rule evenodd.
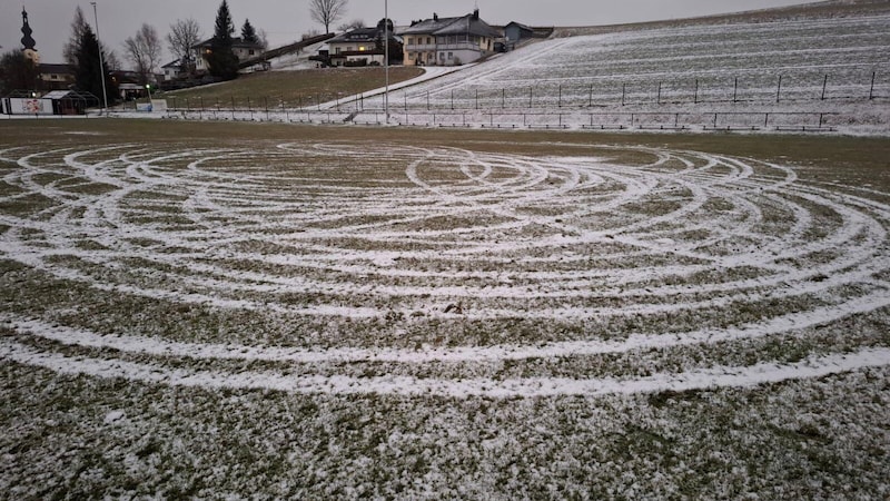
<svg viewBox="0 0 890 501"><path fill-rule="evenodd" d="M389 82L398 84L423 75L421 68L389 68ZM275 106L312 106L333 101L386 85L384 68L325 68L297 71L267 71L245 75L237 80L158 95L172 107L255 106L268 101Z"/></svg>

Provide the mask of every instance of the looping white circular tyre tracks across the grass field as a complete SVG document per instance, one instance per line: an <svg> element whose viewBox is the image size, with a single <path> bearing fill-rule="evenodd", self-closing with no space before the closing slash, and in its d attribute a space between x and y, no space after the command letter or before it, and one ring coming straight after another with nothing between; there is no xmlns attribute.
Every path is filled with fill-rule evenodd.
<svg viewBox="0 0 890 501"><path fill-rule="evenodd" d="M749 385L890 363L880 341L818 341L862 315L887 326L887 194L802 183L790 167L752 159L582 151L2 150L0 202L18 208L0 213L2 259L101 294L348 320L422 340L413 348L366 338L313 347L298 335L288 347L182 341L4 311L0 354L171 384L495 396ZM517 320L574 330L513 340ZM468 323L495 342L439 338ZM809 347L789 361L763 347L772 340ZM733 346L756 360L711 353ZM654 370L606 363L637 354ZM497 372L565 358L602 366L572 377ZM356 364L375 364L374 375Z"/></svg>

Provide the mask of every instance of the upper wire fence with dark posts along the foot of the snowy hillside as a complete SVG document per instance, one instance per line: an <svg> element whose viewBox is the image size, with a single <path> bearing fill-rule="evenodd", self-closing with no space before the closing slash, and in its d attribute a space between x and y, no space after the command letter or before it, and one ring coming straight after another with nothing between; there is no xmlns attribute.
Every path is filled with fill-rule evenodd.
<svg viewBox="0 0 890 501"><path fill-rule="evenodd" d="M871 71L854 76L823 73L723 77L703 76L684 80L620 82L615 79L566 84L542 82L511 88L406 88L389 94L389 106L408 110L505 110L555 108L584 109L664 105L770 104L793 105L813 101L887 101L890 100L890 72ZM859 77L859 78L856 78ZM191 112L247 110L255 114L281 110L301 112L365 111L383 109L384 97L338 98L325 102L320 95L285 99L281 96L228 96L225 98L167 97L171 109Z"/></svg>

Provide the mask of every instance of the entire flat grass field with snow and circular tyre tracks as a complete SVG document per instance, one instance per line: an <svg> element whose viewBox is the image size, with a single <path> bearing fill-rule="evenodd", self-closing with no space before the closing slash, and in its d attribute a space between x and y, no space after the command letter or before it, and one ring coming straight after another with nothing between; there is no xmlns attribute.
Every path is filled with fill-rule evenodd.
<svg viewBox="0 0 890 501"><path fill-rule="evenodd" d="M0 492L887 498L887 158L0 122Z"/></svg>

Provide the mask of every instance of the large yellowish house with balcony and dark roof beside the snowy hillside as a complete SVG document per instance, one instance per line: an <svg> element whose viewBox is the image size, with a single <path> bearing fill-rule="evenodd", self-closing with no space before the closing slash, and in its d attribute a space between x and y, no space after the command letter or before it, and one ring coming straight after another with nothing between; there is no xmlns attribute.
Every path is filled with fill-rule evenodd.
<svg viewBox="0 0 890 501"><path fill-rule="evenodd" d="M479 18L478 9L459 18L415 21L399 35L404 63L409 66L455 66L474 62L494 52L501 33Z"/></svg>

